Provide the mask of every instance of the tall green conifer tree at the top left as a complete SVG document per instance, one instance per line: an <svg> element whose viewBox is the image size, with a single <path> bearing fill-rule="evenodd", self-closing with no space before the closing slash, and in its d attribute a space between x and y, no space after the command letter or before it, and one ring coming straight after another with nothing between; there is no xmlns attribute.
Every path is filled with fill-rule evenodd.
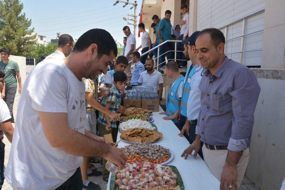
<svg viewBox="0 0 285 190"><path fill-rule="evenodd" d="M29 29L32 20L21 13L23 7L19 0L0 0L0 47L17 56L32 54L37 44L34 28Z"/></svg>

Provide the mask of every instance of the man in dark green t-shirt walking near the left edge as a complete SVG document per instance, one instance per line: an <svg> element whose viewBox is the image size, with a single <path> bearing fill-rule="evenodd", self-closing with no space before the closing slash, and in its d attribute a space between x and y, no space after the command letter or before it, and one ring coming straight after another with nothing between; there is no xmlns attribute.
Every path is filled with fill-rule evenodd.
<svg viewBox="0 0 285 190"><path fill-rule="evenodd" d="M19 93L22 91L21 74L19 65L15 61L9 59L10 50L7 48L0 49L0 67L5 71L5 86L1 93L1 98L6 102L11 115L11 122L14 122L13 117L13 104L17 92L17 79L19 82ZM17 77L17 79L16 79Z"/></svg>

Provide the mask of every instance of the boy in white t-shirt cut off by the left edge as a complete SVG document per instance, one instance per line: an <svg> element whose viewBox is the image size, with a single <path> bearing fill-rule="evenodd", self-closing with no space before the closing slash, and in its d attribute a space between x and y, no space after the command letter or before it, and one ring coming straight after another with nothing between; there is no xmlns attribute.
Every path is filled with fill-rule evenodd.
<svg viewBox="0 0 285 190"><path fill-rule="evenodd" d="M5 71L0 67L0 93L3 90ZM0 98L0 189L4 183L4 155L5 144L3 143L4 134L12 143L14 128L10 122L11 115L7 104Z"/></svg>

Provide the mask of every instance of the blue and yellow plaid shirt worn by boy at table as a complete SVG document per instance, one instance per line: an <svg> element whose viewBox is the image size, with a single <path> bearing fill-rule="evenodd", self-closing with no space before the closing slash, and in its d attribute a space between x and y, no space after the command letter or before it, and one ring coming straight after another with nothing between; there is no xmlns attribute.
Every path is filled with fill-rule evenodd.
<svg viewBox="0 0 285 190"><path fill-rule="evenodd" d="M110 88L110 95L109 96L104 96L101 105L105 107L105 105L107 103L112 103L111 107L109 108L109 110L111 112L115 112L117 113L117 111L119 110L119 106L121 104L121 97L122 97L122 93L119 92L117 90L117 88L115 86L112 86ZM99 123L104 124L105 126L107 126L107 121L104 117L104 113L103 112L99 112L99 118L97 120ZM116 121L110 120L111 123L111 127L112 128L116 128Z"/></svg>

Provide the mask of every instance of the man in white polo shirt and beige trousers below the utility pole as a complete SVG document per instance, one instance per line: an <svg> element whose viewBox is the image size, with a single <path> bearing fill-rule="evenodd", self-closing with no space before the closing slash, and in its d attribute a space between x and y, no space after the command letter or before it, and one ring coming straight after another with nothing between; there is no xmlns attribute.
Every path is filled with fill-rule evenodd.
<svg viewBox="0 0 285 190"><path fill-rule="evenodd" d="M123 32L127 37L127 44L126 44L126 48L125 48L125 57L128 58L128 61L130 62L132 60L132 53L135 51L136 49L136 39L134 37L134 35L131 33L131 30L128 26L125 26L123 28ZM132 63L129 63L125 73L128 74L129 72L131 72L131 65Z"/></svg>

